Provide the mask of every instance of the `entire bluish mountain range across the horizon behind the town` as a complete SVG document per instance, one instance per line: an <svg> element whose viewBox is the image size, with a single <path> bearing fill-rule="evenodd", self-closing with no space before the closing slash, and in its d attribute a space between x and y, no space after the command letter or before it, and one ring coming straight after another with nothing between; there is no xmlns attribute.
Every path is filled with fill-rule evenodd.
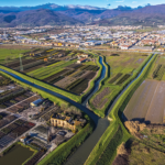
<svg viewBox="0 0 165 165"><path fill-rule="evenodd" d="M165 24L165 4L105 9L90 6L0 7L0 26Z"/></svg>

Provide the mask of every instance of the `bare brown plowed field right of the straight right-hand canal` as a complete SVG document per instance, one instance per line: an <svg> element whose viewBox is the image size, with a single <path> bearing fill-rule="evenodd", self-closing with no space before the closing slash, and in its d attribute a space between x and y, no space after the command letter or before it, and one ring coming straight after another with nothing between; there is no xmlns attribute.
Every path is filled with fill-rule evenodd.
<svg viewBox="0 0 165 165"><path fill-rule="evenodd" d="M129 101L124 116L128 120L163 123L165 81L145 80Z"/></svg>

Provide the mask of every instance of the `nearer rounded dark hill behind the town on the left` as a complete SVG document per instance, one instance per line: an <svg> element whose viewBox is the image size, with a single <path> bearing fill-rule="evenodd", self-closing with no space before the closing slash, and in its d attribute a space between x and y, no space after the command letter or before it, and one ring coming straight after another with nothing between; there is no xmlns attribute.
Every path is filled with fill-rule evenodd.
<svg viewBox="0 0 165 165"><path fill-rule="evenodd" d="M0 26L41 26L41 25L74 25L82 22L48 9L29 10L22 12L1 13Z"/></svg>

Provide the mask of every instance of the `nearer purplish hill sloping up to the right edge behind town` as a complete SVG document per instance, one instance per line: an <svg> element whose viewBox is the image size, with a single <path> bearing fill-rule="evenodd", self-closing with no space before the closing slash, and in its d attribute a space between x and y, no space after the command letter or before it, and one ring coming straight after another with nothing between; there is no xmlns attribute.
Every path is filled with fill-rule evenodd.
<svg viewBox="0 0 165 165"><path fill-rule="evenodd" d="M91 24L145 26L162 25L165 24L165 4L148 6L138 10L122 12L113 18L111 16L99 21L94 21Z"/></svg>

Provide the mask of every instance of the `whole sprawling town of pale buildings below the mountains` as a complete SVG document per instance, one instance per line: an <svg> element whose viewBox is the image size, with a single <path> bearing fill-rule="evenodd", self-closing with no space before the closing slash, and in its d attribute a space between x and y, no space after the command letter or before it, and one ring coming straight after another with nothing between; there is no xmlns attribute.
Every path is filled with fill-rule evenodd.
<svg viewBox="0 0 165 165"><path fill-rule="evenodd" d="M87 47L97 45L110 45L112 48L120 50L139 50L139 51L157 51L164 52L165 32L153 31L147 33L135 32L142 26L63 26L62 33L50 32L40 38L29 38L22 34L32 34L45 32L46 29L33 29L28 31L16 31L12 43L30 44L41 46L57 46L57 47ZM0 35L2 41L8 41L9 36L4 33Z"/></svg>

